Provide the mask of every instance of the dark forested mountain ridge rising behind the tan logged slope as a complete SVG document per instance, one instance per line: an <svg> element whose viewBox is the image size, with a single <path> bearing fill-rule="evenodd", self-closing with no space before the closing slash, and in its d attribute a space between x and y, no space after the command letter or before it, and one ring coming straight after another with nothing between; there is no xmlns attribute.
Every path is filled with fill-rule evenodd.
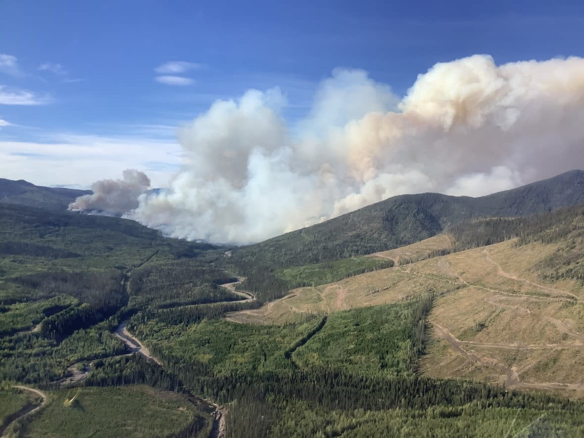
<svg viewBox="0 0 584 438"><path fill-rule="evenodd" d="M328 262L409 245L480 217L545 213L584 204L584 171L574 170L482 197L405 194L233 252L232 263L272 269Z"/></svg>

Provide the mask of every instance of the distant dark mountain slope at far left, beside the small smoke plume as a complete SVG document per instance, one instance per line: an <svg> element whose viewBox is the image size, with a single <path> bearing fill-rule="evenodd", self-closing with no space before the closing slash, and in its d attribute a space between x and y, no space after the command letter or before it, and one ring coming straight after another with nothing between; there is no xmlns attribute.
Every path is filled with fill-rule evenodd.
<svg viewBox="0 0 584 438"><path fill-rule="evenodd" d="M0 203L65 211L75 198L90 193L91 190L35 186L23 179L0 178Z"/></svg>

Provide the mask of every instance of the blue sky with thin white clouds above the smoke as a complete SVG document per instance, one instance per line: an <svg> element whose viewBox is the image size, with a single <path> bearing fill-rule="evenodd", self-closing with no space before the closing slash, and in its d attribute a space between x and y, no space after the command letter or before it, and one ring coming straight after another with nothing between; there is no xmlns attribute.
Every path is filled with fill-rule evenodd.
<svg viewBox="0 0 584 438"><path fill-rule="evenodd" d="M279 86L294 121L336 67L402 96L439 61L583 56L582 41L578 0L3 0L0 177L88 185L134 160L160 185L175 128L216 99Z"/></svg>

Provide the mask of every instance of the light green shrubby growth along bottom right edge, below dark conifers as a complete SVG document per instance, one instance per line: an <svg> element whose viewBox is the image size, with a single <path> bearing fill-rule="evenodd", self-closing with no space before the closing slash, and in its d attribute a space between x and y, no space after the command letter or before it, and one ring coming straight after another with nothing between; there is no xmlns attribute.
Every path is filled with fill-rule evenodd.
<svg viewBox="0 0 584 438"><path fill-rule="evenodd" d="M526 408L485 408L481 402L387 411L326 411L299 402L287 407L271 436L580 436L584 429L579 417L576 412L566 413L561 409L542 413Z"/></svg>

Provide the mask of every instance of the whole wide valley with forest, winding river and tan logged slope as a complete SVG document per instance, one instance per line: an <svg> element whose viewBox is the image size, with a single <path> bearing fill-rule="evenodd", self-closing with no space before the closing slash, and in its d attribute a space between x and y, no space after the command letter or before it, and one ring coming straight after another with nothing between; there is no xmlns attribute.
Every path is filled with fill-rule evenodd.
<svg viewBox="0 0 584 438"><path fill-rule="evenodd" d="M298 258L0 204L6 433L578 436L584 211L468 215Z"/></svg>

